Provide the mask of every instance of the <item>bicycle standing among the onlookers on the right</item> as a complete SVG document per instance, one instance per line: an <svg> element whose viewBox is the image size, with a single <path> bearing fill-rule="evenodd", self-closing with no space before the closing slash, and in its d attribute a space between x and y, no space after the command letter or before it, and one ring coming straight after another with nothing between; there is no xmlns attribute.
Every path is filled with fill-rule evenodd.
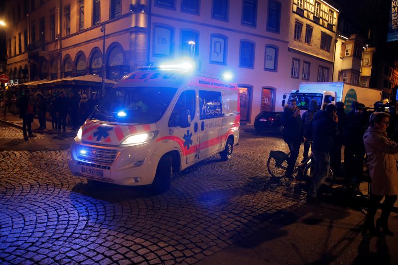
<svg viewBox="0 0 398 265"><path fill-rule="evenodd" d="M312 150L312 142L311 144L311 150ZM272 177L274 178L283 178L286 175L286 171L288 168L288 159L289 159L289 153L285 153L283 151L270 151L270 155L268 157L267 161L267 169L268 172L271 174ZM312 166L312 158L313 154L311 153L306 159L304 159L298 166L295 165L293 173L299 173L302 174L304 177L305 181L308 181L311 179L311 166ZM329 182L329 187L333 185L334 181L334 174L333 170L329 167L329 172L328 176L326 178L326 181Z"/></svg>

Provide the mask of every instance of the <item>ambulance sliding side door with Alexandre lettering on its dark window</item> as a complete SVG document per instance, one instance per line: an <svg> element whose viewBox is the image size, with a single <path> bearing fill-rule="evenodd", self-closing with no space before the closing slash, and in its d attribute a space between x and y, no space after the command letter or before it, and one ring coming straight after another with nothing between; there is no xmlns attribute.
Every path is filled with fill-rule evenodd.
<svg viewBox="0 0 398 265"><path fill-rule="evenodd" d="M221 91L200 89L199 94L199 159L221 151L222 97Z"/></svg>

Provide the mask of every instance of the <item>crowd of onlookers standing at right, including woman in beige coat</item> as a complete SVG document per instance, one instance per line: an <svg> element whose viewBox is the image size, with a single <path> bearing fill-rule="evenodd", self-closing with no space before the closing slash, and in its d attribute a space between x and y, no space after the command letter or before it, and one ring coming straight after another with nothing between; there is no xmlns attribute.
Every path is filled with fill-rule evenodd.
<svg viewBox="0 0 398 265"><path fill-rule="evenodd" d="M374 108L366 108L364 104L354 101L352 110L346 113L343 102L328 104L324 110L319 110L315 100L311 100L308 107L302 118L295 99L284 107L283 136L290 150L286 177L294 178L292 174L301 143L304 142L304 159L308 157L312 143L313 177L307 202L322 204L318 199L318 189L326 179L329 167L336 174L344 176L344 189L348 194L355 195L360 193L364 160L367 160L372 188L363 230L376 233L381 228L385 234L393 235L388 228L388 218L398 194L398 172L394 157L398 153L395 107L390 106L387 113L380 101L375 102ZM344 169L341 167L343 145ZM375 226L377 206L383 197L382 214Z"/></svg>

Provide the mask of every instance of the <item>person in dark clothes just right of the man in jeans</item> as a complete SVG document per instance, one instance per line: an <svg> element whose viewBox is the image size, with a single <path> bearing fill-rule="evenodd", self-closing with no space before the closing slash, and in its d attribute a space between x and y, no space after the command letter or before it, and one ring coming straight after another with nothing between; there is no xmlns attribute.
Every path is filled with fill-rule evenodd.
<svg viewBox="0 0 398 265"><path fill-rule="evenodd" d="M344 111L344 103L336 103L337 112L336 115L339 119L338 121L338 131L333 139L333 147L330 150L330 166L334 173L338 173L341 167L341 148L343 146L344 130L348 124L348 117Z"/></svg>

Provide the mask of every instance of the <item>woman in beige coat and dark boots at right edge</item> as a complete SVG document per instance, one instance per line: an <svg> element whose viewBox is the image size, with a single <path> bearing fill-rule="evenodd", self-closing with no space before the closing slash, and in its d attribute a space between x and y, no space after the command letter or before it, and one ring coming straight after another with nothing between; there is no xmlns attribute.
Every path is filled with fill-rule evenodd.
<svg viewBox="0 0 398 265"><path fill-rule="evenodd" d="M363 231L378 232L380 227L387 235L394 235L388 228L388 218L397 200L398 172L394 154L398 153L398 144L387 137L386 129L390 115L374 112L369 119L370 126L364 134L364 144L368 155L369 174L372 178L370 205ZM374 225L379 202L385 197L382 214Z"/></svg>

